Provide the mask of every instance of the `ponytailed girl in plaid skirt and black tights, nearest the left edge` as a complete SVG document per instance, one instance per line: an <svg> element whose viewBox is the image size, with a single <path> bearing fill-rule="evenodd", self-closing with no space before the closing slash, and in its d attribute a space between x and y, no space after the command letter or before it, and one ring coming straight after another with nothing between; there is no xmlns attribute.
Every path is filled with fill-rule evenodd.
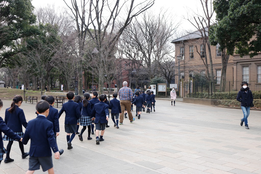
<svg viewBox="0 0 261 174"><path fill-rule="evenodd" d="M15 132L20 137L23 137L22 126L25 128L27 127L27 122L25 119L25 114L23 113L23 109L19 108L22 105L22 102L23 102L22 96L16 95L13 98L11 107L5 110L5 118L4 118L4 122L7 125L7 127L9 127L13 132ZM9 155L10 155L12 144L16 140L8 137L6 134L4 135L3 140L9 141L6 148L7 150L6 158L4 160L5 163L9 163L14 161L14 159L11 159ZM29 155L29 152L27 153L24 152L23 143L21 141L19 141L19 147L22 152L22 159L25 159Z"/></svg>

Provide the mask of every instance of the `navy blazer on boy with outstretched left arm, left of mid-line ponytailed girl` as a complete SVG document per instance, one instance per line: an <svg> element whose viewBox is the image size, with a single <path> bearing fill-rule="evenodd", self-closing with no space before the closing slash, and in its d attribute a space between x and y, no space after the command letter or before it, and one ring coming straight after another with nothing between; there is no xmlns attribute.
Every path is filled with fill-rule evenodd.
<svg viewBox="0 0 261 174"><path fill-rule="evenodd" d="M77 124L77 120L81 117L79 104L73 100L68 100L64 103L61 110L59 111L59 118L62 113L65 112L64 124Z"/></svg>

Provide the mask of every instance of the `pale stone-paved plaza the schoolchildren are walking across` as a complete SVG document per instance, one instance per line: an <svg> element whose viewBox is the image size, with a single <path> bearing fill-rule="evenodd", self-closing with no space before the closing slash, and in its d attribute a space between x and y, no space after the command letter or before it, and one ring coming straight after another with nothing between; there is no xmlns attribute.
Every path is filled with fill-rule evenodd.
<svg viewBox="0 0 261 174"><path fill-rule="evenodd" d="M11 101L3 103L2 118ZM21 108L27 121L36 117L35 104L23 102ZM63 114L57 144L64 153L58 160L53 155L55 173L261 173L261 111L250 111L249 130L240 126L242 115L241 109L179 101L171 106L170 101L156 99L156 112L142 112L141 119L136 117L132 124L124 119L120 129L113 127L110 118L105 141L99 145L94 135L87 140L86 130L84 141L79 141L76 135L73 149L67 150ZM25 151L28 150L29 143L25 146ZM2 161L0 173L20 174L28 170L29 157L21 158L17 142L10 157L14 162Z"/></svg>

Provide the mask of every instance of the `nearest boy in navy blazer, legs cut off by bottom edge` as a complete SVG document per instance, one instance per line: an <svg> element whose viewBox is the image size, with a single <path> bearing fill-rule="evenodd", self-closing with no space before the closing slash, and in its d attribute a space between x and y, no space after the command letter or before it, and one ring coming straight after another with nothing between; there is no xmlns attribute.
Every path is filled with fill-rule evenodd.
<svg viewBox="0 0 261 174"><path fill-rule="evenodd" d="M55 153L55 159L60 158L54 138L53 124L46 119L49 114L49 108L49 103L44 100L36 104L38 116L28 121L25 134L23 135L23 144L27 144L29 139L31 139L29 169L26 174L32 174L35 170L39 170L40 165L44 172L48 170L49 174L53 174L52 151Z"/></svg>

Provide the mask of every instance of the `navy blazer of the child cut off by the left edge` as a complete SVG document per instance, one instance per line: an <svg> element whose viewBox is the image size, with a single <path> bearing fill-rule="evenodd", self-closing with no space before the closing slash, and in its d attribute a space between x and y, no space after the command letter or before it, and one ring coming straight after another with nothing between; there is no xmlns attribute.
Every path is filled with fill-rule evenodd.
<svg viewBox="0 0 261 174"><path fill-rule="evenodd" d="M4 148L2 132L4 132L4 134L9 138L12 138L16 141L21 140L21 137L9 129L9 127L7 127L7 125L4 123L2 117L0 117L0 149Z"/></svg>

